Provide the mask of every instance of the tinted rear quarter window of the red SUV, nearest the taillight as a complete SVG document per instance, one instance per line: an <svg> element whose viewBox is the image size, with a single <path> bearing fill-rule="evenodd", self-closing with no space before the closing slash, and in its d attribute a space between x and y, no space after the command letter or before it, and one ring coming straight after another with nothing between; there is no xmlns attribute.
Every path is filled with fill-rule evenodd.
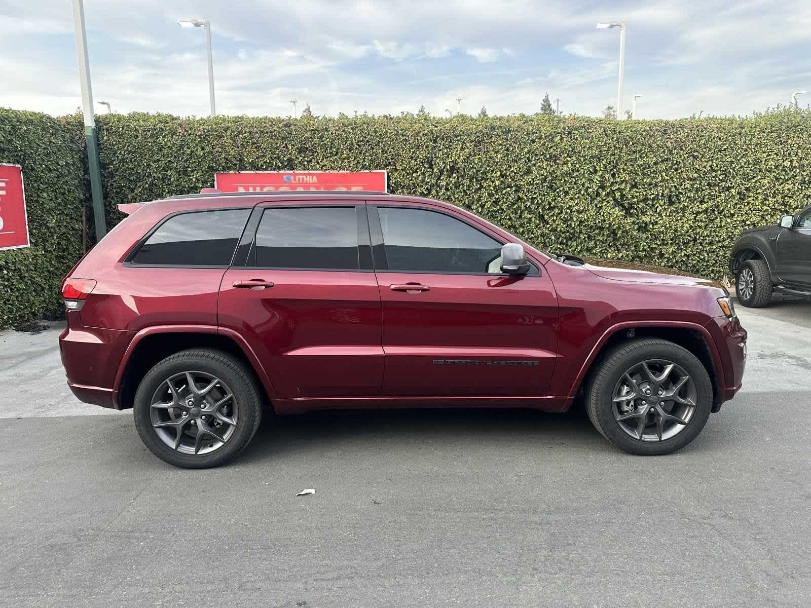
<svg viewBox="0 0 811 608"><path fill-rule="evenodd" d="M225 209L170 217L144 242L132 262L228 266L250 212Z"/></svg>

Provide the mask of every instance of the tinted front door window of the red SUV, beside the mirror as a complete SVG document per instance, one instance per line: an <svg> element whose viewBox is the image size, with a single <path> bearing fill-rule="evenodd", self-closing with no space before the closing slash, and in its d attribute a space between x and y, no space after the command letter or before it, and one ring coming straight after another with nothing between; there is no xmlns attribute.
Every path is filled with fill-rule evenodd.
<svg viewBox="0 0 811 608"><path fill-rule="evenodd" d="M501 255L496 239L444 213L393 207L378 212L389 270L488 272Z"/></svg>

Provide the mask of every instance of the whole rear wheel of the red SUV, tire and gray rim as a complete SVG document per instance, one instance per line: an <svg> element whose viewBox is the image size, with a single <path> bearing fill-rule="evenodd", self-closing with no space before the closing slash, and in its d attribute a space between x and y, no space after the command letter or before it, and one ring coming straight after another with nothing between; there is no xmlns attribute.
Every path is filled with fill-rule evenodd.
<svg viewBox="0 0 811 608"><path fill-rule="evenodd" d="M250 370L212 349L175 353L135 392L135 427L169 465L206 469L234 458L259 428L260 393Z"/></svg>

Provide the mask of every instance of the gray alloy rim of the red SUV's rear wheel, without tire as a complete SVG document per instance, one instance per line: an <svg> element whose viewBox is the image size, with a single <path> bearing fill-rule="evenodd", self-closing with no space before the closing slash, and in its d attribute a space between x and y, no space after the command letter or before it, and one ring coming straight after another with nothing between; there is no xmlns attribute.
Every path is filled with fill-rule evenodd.
<svg viewBox="0 0 811 608"><path fill-rule="evenodd" d="M234 436L238 407L234 392L204 371L167 378L152 395L152 428L163 443L184 454L208 454Z"/></svg>

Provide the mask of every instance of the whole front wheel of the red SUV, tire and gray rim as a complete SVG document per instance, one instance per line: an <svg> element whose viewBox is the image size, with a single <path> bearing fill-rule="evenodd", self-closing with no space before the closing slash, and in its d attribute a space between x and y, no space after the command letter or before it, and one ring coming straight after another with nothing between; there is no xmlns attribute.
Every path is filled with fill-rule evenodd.
<svg viewBox="0 0 811 608"><path fill-rule="evenodd" d="M710 376L679 345L633 340L609 351L598 365L586 388L586 412L603 437L625 452L675 452L710 417Z"/></svg>

